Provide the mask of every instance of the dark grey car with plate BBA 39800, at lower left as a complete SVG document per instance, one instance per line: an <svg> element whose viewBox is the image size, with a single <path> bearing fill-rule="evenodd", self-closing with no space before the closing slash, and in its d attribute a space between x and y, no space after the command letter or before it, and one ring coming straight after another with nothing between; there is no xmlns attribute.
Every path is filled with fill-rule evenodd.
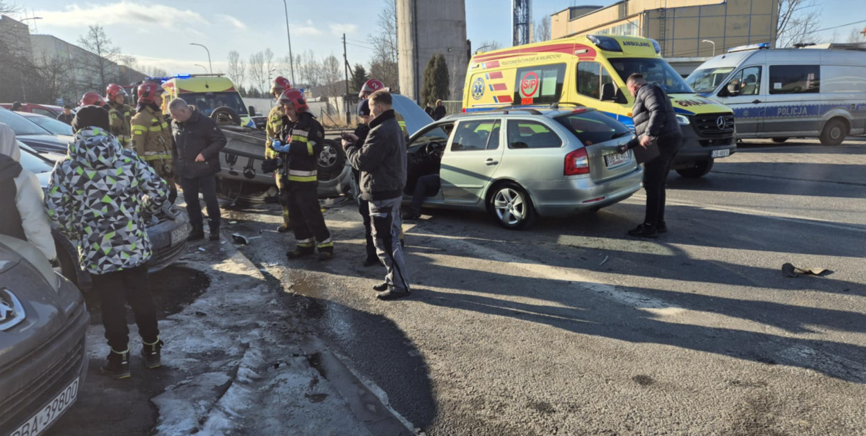
<svg viewBox="0 0 866 436"><path fill-rule="evenodd" d="M0 235L0 434L35 435L78 397L90 315L81 292L24 240Z"/></svg>

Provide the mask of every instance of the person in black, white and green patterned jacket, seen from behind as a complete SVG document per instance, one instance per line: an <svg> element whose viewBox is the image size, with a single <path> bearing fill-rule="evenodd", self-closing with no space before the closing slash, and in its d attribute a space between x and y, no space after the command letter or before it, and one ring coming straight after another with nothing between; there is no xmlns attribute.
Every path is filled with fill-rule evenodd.
<svg viewBox="0 0 866 436"><path fill-rule="evenodd" d="M75 114L75 136L51 173L45 204L60 232L78 241L81 266L99 295L111 347L101 371L123 379L130 376L126 303L139 326L145 366L162 366L163 342L145 266L151 241L142 213L157 213L168 187L135 152L120 146L110 127L100 106L84 106Z"/></svg>

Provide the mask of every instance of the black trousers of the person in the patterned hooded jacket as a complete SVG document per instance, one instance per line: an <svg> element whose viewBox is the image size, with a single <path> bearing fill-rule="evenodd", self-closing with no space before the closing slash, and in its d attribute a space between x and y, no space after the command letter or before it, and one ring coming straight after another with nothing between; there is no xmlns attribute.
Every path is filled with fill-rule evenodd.
<svg viewBox="0 0 866 436"><path fill-rule="evenodd" d="M136 266L123 271L94 274L94 289L102 306L102 326L106 329L108 346L114 351L125 351L129 345L129 327L126 326L126 303L135 314L139 336L145 343L155 343L159 337L157 309L153 304L147 267Z"/></svg>

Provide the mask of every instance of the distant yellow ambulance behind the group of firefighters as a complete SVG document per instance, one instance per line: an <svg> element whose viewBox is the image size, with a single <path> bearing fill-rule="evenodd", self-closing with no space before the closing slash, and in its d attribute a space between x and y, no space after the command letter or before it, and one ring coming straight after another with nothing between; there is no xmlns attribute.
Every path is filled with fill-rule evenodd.
<svg viewBox="0 0 866 436"><path fill-rule="evenodd" d="M247 107L243 104L241 94L237 92L235 84L223 74L176 74L172 77L154 78L162 80L165 88L163 96L163 112L168 113L168 102L180 97L188 104L210 117L218 108L228 107L236 113L240 125L247 125L255 129L255 124L249 118ZM229 118L234 118L231 112L225 111Z"/></svg>

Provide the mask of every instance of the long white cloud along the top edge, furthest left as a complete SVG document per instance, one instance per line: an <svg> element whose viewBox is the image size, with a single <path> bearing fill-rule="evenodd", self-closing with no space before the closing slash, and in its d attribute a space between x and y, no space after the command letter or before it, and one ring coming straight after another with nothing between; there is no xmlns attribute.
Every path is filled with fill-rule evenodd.
<svg viewBox="0 0 866 436"><path fill-rule="evenodd" d="M198 12L179 10L162 4L109 3L87 4L85 7L73 4L65 10L38 10L42 16L40 24L58 27L83 27L87 24L134 25L145 24L164 29L187 27L191 24L209 24Z"/></svg>

